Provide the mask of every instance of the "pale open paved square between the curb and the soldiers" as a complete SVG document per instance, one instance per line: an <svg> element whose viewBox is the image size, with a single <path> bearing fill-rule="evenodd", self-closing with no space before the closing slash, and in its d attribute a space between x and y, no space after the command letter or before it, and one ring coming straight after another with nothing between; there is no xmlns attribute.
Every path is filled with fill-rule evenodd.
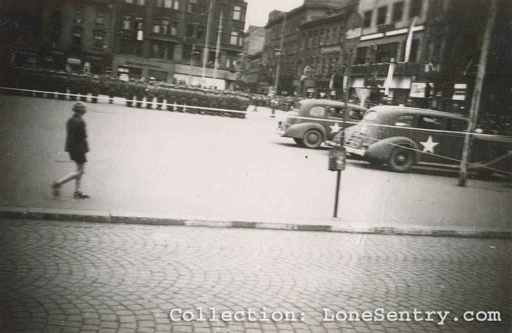
<svg viewBox="0 0 512 333"><path fill-rule="evenodd" d="M0 206L162 214L172 218L510 231L512 190L500 179L374 170L351 161L332 218L336 175L327 150L274 134L262 112L247 119L89 103L91 152L83 179L59 200L48 183L73 170L63 152L71 101L0 95Z"/></svg>

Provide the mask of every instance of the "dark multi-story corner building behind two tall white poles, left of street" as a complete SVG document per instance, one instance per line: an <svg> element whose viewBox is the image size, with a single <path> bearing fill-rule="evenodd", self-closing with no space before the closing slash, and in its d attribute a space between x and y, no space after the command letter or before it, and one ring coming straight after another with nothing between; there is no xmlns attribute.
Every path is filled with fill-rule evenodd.
<svg viewBox="0 0 512 333"><path fill-rule="evenodd" d="M113 71L232 88L246 9L242 0L118 0Z"/></svg>

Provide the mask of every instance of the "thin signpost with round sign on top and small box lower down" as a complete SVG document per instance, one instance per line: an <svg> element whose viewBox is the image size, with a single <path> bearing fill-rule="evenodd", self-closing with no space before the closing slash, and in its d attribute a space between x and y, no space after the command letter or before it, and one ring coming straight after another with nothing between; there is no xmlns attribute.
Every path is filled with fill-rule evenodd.
<svg viewBox="0 0 512 333"><path fill-rule="evenodd" d="M348 99L349 99L349 91L350 91L350 75L351 75L351 67L352 67L352 55L354 53L357 44L359 43L359 39L361 38L361 26L362 19L359 13L354 12L350 15L347 20L346 32L345 32L345 40L344 40L344 51L348 55L347 61L347 87L345 88L345 110L343 115L343 124L342 130L339 137L339 145L337 145L334 149L329 151L329 170L336 171L336 192L334 195L334 214L333 217L337 217L338 215L338 197L339 197L339 182L341 179L341 172L345 170L345 159L346 159L346 151L343 147L343 143L345 141L345 129L347 128L347 122L349 116L348 109Z"/></svg>

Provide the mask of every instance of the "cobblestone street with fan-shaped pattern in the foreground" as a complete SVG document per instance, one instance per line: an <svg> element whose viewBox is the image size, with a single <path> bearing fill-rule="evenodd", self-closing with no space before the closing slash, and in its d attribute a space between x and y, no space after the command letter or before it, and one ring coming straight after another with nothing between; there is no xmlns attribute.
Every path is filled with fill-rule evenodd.
<svg viewBox="0 0 512 333"><path fill-rule="evenodd" d="M506 239L0 220L0 332L509 333L510 245ZM234 317L241 321L210 321L210 307L218 317L250 308L257 320L244 314ZM207 320L172 321L175 308L196 318L203 308ZM325 321L324 308L332 309L327 317L368 310L377 320ZM410 311L411 321L382 320L379 308L384 316ZM423 311L450 314L438 325L437 314L414 321L414 309L421 311L418 319L426 318ZM276 320L261 321L259 311ZM295 321L279 321L279 311L293 312ZM479 318L500 311L501 321L466 322L465 311L473 317L485 311Z"/></svg>

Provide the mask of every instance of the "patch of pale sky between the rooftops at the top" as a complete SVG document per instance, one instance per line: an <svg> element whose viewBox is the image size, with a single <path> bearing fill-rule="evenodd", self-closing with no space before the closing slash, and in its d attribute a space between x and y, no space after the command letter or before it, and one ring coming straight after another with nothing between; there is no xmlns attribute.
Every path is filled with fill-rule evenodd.
<svg viewBox="0 0 512 333"><path fill-rule="evenodd" d="M304 4L304 0L246 0L247 14L245 28L251 26L263 27L268 22L268 13L272 10L290 11Z"/></svg>

